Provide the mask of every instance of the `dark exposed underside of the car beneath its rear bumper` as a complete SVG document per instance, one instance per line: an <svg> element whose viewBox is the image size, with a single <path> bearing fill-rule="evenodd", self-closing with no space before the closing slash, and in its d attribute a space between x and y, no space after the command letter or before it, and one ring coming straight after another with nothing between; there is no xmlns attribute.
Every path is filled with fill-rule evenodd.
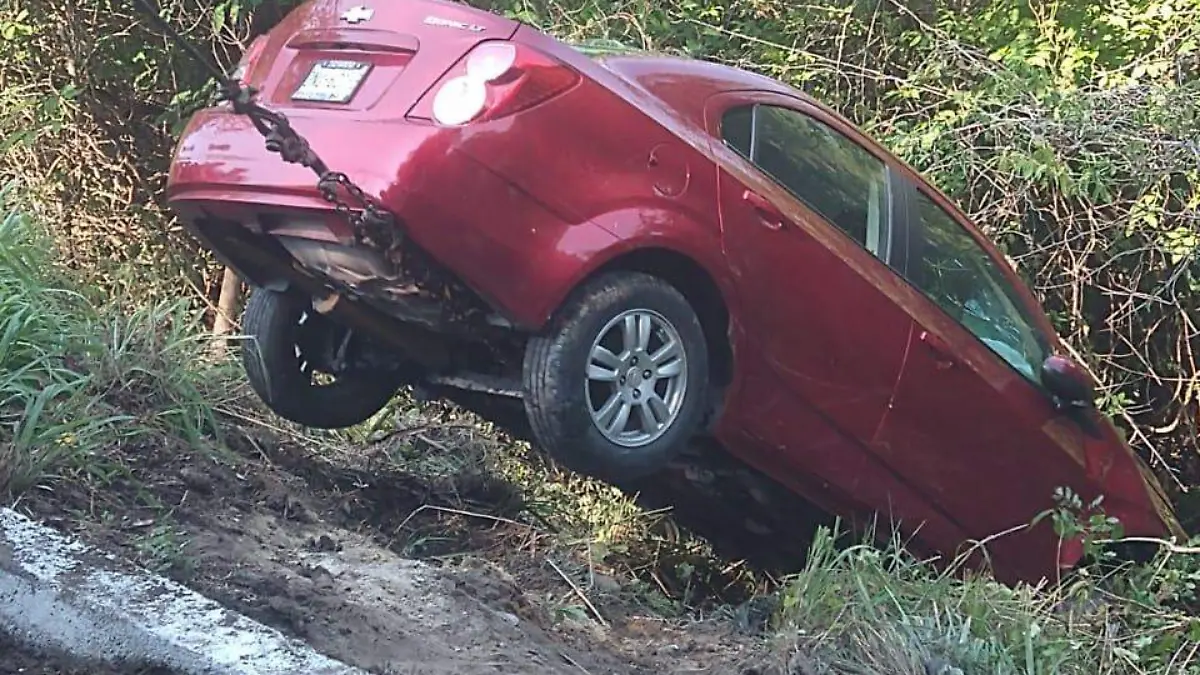
<svg viewBox="0 0 1200 675"><path fill-rule="evenodd" d="M193 232L253 286L311 300L316 313L353 331L350 353L326 346L325 369L395 371L414 384L520 398L523 335L436 263L419 264L415 246L396 256L402 268L364 245L230 221L197 222Z"/></svg>

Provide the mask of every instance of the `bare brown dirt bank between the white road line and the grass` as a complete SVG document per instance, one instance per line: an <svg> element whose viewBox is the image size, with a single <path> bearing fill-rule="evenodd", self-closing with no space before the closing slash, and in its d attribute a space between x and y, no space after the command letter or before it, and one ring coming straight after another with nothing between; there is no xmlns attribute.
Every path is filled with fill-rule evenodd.
<svg viewBox="0 0 1200 675"><path fill-rule="evenodd" d="M103 489L60 480L19 508L372 673L756 671L744 622L667 621L556 566L486 474L418 478L250 428L227 444L113 448Z"/></svg>

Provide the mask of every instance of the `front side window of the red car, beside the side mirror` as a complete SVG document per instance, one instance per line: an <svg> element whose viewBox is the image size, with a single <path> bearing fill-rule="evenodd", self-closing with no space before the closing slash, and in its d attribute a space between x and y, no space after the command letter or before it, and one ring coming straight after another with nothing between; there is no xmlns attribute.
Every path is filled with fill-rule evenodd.
<svg viewBox="0 0 1200 675"><path fill-rule="evenodd" d="M950 214L913 191L907 277L1000 358L1039 382L1048 344L998 263Z"/></svg>

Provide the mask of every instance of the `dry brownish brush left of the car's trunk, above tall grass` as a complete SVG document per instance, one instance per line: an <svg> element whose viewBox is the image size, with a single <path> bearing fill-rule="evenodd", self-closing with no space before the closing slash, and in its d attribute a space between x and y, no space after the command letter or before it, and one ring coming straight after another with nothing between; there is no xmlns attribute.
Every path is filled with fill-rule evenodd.
<svg viewBox="0 0 1200 675"><path fill-rule="evenodd" d="M26 178L23 208L91 283L133 270L140 295L194 289L215 299L220 270L162 204L173 133L209 74L139 13L140 1L0 0L0 175ZM224 71L292 6L150 4Z"/></svg>

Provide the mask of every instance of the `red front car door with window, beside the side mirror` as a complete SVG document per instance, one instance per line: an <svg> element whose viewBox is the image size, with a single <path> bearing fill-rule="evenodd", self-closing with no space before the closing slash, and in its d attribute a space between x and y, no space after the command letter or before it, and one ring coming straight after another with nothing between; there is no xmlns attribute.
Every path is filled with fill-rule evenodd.
<svg viewBox="0 0 1200 675"><path fill-rule="evenodd" d="M1090 497L1082 430L1039 380L1055 344L1048 322L943 198L907 179L896 186L908 204L900 301L916 330L876 452L974 539L1030 522L1060 485ZM1048 521L988 550L1008 574L1055 569Z"/></svg>

